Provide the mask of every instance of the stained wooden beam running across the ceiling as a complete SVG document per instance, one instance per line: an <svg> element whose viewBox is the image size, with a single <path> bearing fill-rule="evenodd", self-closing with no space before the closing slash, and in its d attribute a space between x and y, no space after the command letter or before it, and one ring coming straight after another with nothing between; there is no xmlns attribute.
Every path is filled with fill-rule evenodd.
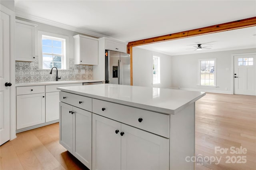
<svg viewBox="0 0 256 170"><path fill-rule="evenodd" d="M138 40L138 41L134 41L134 42L129 42L127 45L127 52L130 53L130 47L134 47L134 46L138 46L138 45L145 45L145 44L156 43L156 42L164 42L164 41L169 41L169 40L177 40L177 39L181 39L181 38L200 36L200 35L204 35L204 34L212 34L212 33L216 33L216 32L228 31L228 30L236 30L236 29L252 27L252 26L256 26L256 17L227 22L224 24L217 24L214 26L208 26L208 27L198 28L198 29L194 29L194 30L188 30L188 31L184 31L184 32L178 32L178 33L174 33L174 34L168 34L168 35L164 35L164 36L147 38L144 40Z"/></svg>

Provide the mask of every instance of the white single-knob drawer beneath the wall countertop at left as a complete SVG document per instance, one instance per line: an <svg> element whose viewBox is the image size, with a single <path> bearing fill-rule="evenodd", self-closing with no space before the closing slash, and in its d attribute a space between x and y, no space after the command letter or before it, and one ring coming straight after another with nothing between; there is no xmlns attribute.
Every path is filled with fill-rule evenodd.
<svg viewBox="0 0 256 170"><path fill-rule="evenodd" d="M35 93L44 93L44 85L39 86L26 86L26 87L17 87L16 95L28 95Z"/></svg>

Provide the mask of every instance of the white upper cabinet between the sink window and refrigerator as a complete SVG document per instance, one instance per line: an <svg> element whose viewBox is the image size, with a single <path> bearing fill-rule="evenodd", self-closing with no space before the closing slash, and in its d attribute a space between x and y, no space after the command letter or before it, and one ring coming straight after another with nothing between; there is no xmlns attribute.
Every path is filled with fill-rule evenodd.
<svg viewBox="0 0 256 170"><path fill-rule="evenodd" d="M96 38L74 36L74 64L98 65L98 40Z"/></svg>

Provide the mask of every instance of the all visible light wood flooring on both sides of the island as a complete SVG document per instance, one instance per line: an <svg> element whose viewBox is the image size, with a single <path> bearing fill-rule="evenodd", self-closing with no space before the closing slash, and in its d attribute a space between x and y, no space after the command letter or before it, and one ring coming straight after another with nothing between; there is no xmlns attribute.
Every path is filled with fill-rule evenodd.
<svg viewBox="0 0 256 170"><path fill-rule="evenodd" d="M0 146L1 170L85 170L59 144L59 124L17 134ZM247 148L246 154L215 154L214 147ZM228 151L228 153L230 150ZM256 169L256 97L207 93L196 102L196 155L222 156L220 164L207 161L196 170ZM246 164L227 164L226 156L246 156ZM207 160L207 159L206 159ZM217 162L217 161L215 161Z"/></svg>

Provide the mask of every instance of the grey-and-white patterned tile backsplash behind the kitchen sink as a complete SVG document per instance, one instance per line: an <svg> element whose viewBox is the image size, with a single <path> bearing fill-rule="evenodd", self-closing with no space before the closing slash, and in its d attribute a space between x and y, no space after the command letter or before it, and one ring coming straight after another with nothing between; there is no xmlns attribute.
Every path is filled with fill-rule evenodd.
<svg viewBox="0 0 256 170"><path fill-rule="evenodd" d="M15 81L16 83L33 83L38 81L55 81L56 69L50 70L38 69L38 57L32 62L15 62ZM69 59L69 69L58 70L59 81L65 80L92 80L92 65L74 65L74 59Z"/></svg>

